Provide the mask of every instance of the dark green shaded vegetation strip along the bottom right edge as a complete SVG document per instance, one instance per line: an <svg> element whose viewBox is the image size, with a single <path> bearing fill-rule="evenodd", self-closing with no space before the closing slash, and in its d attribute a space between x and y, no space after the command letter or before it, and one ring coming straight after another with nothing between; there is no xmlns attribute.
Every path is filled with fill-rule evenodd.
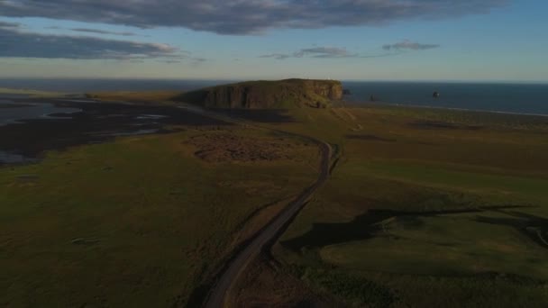
<svg viewBox="0 0 548 308"><path fill-rule="evenodd" d="M498 272L408 276L322 265L290 268L312 288L352 307L543 307L545 295L539 294L548 286L543 280Z"/></svg>

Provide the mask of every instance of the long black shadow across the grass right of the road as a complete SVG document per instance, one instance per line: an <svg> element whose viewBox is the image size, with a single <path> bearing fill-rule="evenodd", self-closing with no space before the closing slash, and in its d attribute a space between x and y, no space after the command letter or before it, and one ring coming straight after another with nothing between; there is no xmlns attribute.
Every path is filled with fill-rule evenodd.
<svg viewBox="0 0 548 308"><path fill-rule="evenodd" d="M382 230L383 222L388 218L397 218L408 228L418 228L422 222L419 217L433 217L461 213L484 213L505 209L523 208L522 205L485 206L474 209L442 210L425 212L398 212L392 210L370 210L352 220L343 223L314 223L312 230L300 237L284 240L281 245L294 251L307 248L320 248L352 240L367 240Z"/></svg>

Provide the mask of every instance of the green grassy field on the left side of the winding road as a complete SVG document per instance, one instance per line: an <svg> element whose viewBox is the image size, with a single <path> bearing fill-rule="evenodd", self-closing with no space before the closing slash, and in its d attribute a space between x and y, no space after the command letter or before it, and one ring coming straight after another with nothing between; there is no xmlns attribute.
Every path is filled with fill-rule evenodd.
<svg viewBox="0 0 548 308"><path fill-rule="evenodd" d="M270 205L316 177L318 149L306 141L182 128L0 168L0 305L184 305L276 213ZM215 134L281 142L291 158L198 159L188 140Z"/></svg>

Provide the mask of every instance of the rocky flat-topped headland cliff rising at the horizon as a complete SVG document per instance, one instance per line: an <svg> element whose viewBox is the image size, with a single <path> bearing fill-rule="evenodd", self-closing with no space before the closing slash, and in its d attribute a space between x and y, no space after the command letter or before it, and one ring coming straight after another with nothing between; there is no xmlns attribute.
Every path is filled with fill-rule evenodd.
<svg viewBox="0 0 548 308"><path fill-rule="evenodd" d="M250 81L188 92L179 100L211 108L325 107L342 98L342 84L335 80L286 79Z"/></svg>

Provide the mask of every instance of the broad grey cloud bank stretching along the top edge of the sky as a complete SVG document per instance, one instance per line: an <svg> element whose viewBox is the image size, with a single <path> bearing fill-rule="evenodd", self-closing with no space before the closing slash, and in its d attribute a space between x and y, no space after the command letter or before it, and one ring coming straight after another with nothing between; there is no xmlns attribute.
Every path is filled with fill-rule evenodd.
<svg viewBox="0 0 548 308"><path fill-rule="evenodd" d="M370 26L487 14L510 0L4 0L0 16L45 17L221 34Z"/></svg>

